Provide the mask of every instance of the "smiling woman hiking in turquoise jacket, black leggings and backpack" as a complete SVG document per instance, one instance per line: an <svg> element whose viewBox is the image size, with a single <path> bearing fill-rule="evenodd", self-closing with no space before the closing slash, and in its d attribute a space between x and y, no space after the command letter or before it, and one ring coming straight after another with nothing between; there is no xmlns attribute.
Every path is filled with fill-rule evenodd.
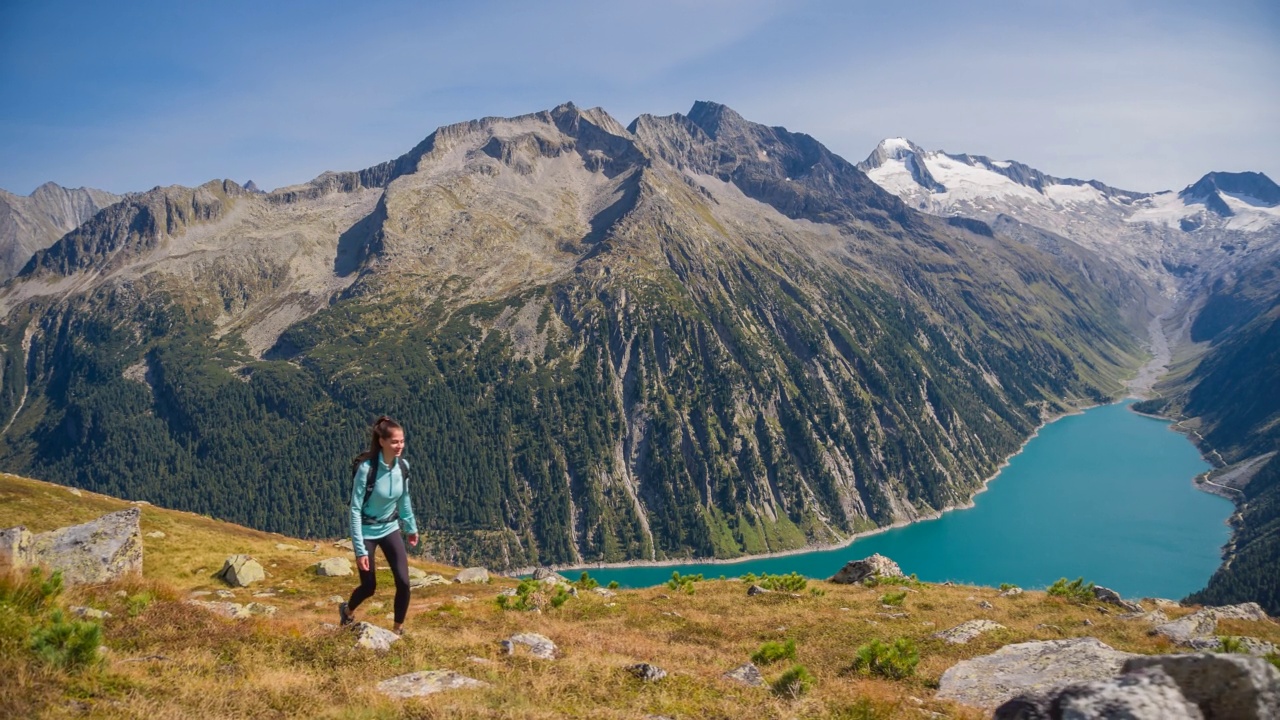
<svg viewBox="0 0 1280 720"><path fill-rule="evenodd" d="M351 462L355 474L349 498L351 546L360 568L360 587L351 592L351 600L338 605L338 618L343 625L349 625L352 612L378 588L374 548L383 548L396 578L393 630L397 635L404 634L404 615L408 612L408 555L401 538L401 523L404 524L410 547L417 544L417 523L406 484L408 462L401 459L403 451L404 428L383 415L374 421L369 450Z"/></svg>

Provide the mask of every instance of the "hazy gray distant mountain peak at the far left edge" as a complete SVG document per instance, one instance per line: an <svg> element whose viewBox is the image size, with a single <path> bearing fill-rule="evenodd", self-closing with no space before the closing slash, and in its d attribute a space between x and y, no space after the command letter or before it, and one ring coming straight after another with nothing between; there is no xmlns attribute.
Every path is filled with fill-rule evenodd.
<svg viewBox="0 0 1280 720"><path fill-rule="evenodd" d="M0 190L0 281L18 274L37 250L119 200L119 195L101 190L70 190L51 182L26 197Z"/></svg>

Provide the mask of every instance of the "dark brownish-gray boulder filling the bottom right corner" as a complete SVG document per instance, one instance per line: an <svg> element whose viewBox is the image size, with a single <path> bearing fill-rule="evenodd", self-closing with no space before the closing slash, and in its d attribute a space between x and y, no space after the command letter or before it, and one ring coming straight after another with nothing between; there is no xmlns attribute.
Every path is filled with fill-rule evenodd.
<svg viewBox="0 0 1280 720"><path fill-rule="evenodd" d="M1280 671L1249 655L1155 655L1133 657L1125 673L1165 671L1206 717L1280 717Z"/></svg>

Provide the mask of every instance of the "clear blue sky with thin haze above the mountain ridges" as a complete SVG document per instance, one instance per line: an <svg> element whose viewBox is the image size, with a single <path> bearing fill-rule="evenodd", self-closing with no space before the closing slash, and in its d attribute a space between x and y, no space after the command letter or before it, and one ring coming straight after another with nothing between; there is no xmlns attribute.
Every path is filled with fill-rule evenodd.
<svg viewBox="0 0 1280 720"><path fill-rule="evenodd" d="M0 187L265 190L442 124L714 100L1126 190L1280 181L1280 3L0 0Z"/></svg>

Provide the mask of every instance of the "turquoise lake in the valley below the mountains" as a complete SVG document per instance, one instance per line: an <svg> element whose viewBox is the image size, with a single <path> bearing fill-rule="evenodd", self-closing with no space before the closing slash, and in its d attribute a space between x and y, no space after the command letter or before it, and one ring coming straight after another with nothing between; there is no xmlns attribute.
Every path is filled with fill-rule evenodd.
<svg viewBox="0 0 1280 720"><path fill-rule="evenodd" d="M1230 501L1192 479L1210 469L1169 423L1132 401L1041 428L974 507L867 536L838 550L731 564L582 568L602 584L664 583L673 570L707 578L791 573L829 578L874 552L925 582L1043 588L1083 577L1125 597L1181 598L1208 580L1230 536ZM576 579L579 570L564 571Z"/></svg>

